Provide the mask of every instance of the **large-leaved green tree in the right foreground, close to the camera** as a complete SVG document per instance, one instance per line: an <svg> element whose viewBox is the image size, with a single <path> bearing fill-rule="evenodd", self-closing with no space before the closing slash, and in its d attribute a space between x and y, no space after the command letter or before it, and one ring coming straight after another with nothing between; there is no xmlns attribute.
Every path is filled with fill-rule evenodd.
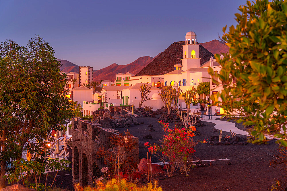
<svg viewBox="0 0 287 191"><path fill-rule="evenodd" d="M254 125L255 142L272 134L287 146L287 2L247 1L238 10L236 27L228 32L223 28L230 54L222 60L215 56L222 66L218 78L227 82L218 93L222 108L229 116L236 112L239 121L247 120L245 125Z"/></svg>

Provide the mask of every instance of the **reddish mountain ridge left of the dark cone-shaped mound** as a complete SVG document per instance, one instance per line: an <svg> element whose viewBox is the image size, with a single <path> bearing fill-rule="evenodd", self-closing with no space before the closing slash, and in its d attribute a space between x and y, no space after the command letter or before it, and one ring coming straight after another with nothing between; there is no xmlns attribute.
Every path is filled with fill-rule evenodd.
<svg viewBox="0 0 287 191"><path fill-rule="evenodd" d="M106 68L102 68L96 72L93 72L93 81L114 80L115 75L118 74L119 72L122 72L122 73L129 72L132 74L137 74L146 65L152 62L152 60L154 60L154 58L150 56L143 56L133 61L130 64L126 64L126 65L119 65L115 63L111 64L110 66L107 66Z"/></svg>

